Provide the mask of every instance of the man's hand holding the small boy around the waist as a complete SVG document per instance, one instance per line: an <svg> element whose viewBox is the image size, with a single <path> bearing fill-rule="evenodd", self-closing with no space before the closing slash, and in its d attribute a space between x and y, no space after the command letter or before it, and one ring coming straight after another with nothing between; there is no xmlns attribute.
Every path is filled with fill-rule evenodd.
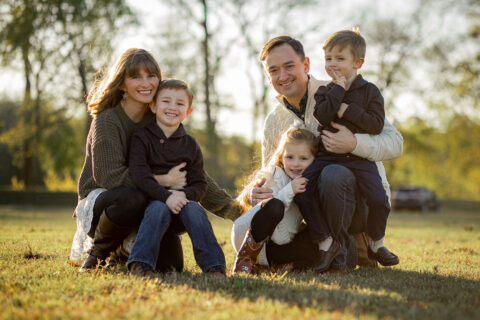
<svg viewBox="0 0 480 320"><path fill-rule="evenodd" d="M345 154L355 150L357 138L347 127L331 122L332 127L338 129L333 133L327 130L322 131L322 142L328 152Z"/></svg>

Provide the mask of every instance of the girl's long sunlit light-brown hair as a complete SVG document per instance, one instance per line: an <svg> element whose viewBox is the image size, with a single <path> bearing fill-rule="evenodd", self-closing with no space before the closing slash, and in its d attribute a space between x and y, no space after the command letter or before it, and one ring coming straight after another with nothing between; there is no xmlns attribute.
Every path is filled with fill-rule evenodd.
<svg viewBox="0 0 480 320"><path fill-rule="evenodd" d="M287 144L290 143L300 143L304 142L307 143L310 147L310 152L312 155L317 153L317 145L318 139L315 135L308 129L305 128L298 128L298 127L290 127L285 133L282 135L280 142L278 143L278 147L275 150L272 158L268 166L276 166L284 169L282 156L285 152L285 147ZM235 201L242 207L244 211L250 210L252 207L250 203L250 192L254 185L257 183L257 180L262 178L261 170L257 169L248 177L248 183L243 187L243 190L240 192L238 197Z"/></svg>

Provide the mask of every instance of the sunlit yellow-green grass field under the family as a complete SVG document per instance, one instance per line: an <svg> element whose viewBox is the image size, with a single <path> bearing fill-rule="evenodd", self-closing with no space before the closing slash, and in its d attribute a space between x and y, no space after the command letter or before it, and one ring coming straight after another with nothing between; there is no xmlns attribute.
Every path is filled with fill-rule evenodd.
<svg viewBox="0 0 480 320"><path fill-rule="evenodd" d="M76 272L72 210L0 207L1 319L480 319L480 212L392 212L393 268L216 279L184 236L186 272L142 280ZM212 222L231 269L232 223Z"/></svg>

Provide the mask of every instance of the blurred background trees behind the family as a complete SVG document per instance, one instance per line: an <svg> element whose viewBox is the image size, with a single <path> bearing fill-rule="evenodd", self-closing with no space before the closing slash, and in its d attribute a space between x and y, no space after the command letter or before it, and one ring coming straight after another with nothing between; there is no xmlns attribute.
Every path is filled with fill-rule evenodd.
<svg viewBox="0 0 480 320"><path fill-rule="evenodd" d="M385 162L390 183L480 199L480 3L417 0L395 13L382 1L357 2L0 0L0 81L23 79L0 92L0 186L75 190L85 94L128 36L145 39L165 77L191 84L187 126L209 174L233 193L260 163L259 133L274 105L258 62L263 43L300 39L312 74L326 78L323 41L359 26L368 45L362 73L382 89L405 139L404 155Z"/></svg>

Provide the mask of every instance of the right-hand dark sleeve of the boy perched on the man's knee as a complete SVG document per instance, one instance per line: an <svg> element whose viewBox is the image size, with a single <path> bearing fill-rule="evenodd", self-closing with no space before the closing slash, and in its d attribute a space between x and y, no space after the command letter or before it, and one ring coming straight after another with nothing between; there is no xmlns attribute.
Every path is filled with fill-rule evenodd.
<svg viewBox="0 0 480 320"><path fill-rule="evenodd" d="M368 84L368 96L366 106L357 103L348 105L343 114L343 119L348 120L360 128L361 132L379 134L383 129L385 108L383 96L374 84Z"/></svg>

